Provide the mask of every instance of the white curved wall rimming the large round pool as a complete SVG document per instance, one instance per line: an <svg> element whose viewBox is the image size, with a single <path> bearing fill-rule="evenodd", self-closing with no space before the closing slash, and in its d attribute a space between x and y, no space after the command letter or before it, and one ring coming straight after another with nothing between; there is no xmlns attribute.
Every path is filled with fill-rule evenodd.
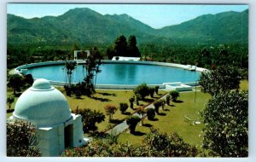
<svg viewBox="0 0 256 162"><path fill-rule="evenodd" d="M44 67L44 66L50 66L50 65L60 65L65 64L66 61L47 61L47 62L38 62L38 63L32 63L27 65L22 65L20 67L15 68L16 73L26 73L26 69L32 68L32 67ZM77 60L78 64L83 64L84 61ZM142 65L156 65L156 66L164 66L164 67L177 67L177 68L183 68L186 70L195 70L197 72L205 72L207 69L201 68L201 67L195 67L191 65L181 65L181 64L174 64L174 63L166 63L166 62L155 62L155 61L110 61L110 60L103 60L103 63L119 63L119 64L142 64ZM192 67L192 68L191 68ZM35 78L37 79L37 78ZM66 83L65 82L57 82L49 80L50 84L53 85L60 85L63 86ZM73 83L77 84L77 83ZM189 86L195 86L197 85L196 82L193 83L183 83ZM160 89L166 89L166 84L148 84L149 87L154 87L155 85L159 85ZM96 84L96 89L113 89L113 90L134 90L136 89L137 84Z"/></svg>

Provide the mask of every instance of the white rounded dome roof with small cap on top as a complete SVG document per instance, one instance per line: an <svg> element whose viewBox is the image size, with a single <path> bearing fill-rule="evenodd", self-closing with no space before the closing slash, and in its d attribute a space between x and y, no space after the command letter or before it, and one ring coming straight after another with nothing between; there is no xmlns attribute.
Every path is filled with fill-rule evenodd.
<svg viewBox="0 0 256 162"><path fill-rule="evenodd" d="M66 97L44 78L37 79L20 95L13 116L38 127L50 127L72 118Z"/></svg>

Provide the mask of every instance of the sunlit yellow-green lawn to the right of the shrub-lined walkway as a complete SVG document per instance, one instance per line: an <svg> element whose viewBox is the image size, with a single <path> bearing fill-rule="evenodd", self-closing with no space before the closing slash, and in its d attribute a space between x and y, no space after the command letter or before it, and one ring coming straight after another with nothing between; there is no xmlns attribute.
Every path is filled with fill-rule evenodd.
<svg viewBox="0 0 256 162"><path fill-rule="evenodd" d="M171 132L177 132L183 137L185 142L190 144L201 145L202 137L200 136L203 128L200 111L204 108L204 105L210 99L210 95L203 94L201 92L195 93L180 93L177 98L178 102L172 102L171 106L166 106L166 111L160 109L162 115L156 115L156 121L144 120L146 126L141 124L137 125L137 131L148 133L150 126L159 129L161 132L170 134ZM190 119L199 119L201 124L192 124L192 122L185 121L184 116L188 116ZM123 132L118 137L118 142L131 142L132 144L139 145L143 140L143 136L134 136L129 131Z"/></svg>

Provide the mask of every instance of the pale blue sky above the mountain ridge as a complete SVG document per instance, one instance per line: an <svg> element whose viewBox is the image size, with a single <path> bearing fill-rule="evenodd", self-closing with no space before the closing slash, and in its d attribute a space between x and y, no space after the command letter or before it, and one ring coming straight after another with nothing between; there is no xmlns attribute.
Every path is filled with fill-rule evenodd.
<svg viewBox="0 0 256 162"><path fill-rule="evenodd" d="M90 8L100 14L129 14L148 26L161 28L195 19L202 14L241 12L248 9L248 5L8 3L7 13L30 19L45 15L58 16L75 8Z"/></svg>

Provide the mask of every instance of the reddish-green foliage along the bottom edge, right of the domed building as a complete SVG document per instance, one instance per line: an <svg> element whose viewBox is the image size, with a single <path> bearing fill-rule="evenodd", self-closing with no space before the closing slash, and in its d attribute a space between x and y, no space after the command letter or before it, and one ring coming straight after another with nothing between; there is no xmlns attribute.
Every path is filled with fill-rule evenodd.
<svg viewBox="0 0 256 162"><path fill-rule="evenodd" d="M162 145L162 146L161 146ZM99 138L82 148L67 149L62 156L67 157L195 157L198 150L183 142L172 133L171 136L151 130L143 144L133 146L129 142L117 143L114 138Z"/></svg>

